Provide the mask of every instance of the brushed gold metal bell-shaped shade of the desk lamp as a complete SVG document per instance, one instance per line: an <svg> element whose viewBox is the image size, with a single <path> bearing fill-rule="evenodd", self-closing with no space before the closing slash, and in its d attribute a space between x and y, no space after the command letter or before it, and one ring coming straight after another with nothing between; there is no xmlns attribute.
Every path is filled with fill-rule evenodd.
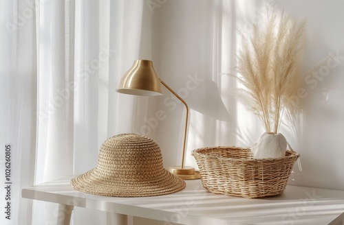
<svg viewBox="0 0 344 225"><path fill-rule="evenodd" d="M129 95L162 95L160 80L153 68L153 62L135 60L133 66L123 75L116 91Z"/></svg>

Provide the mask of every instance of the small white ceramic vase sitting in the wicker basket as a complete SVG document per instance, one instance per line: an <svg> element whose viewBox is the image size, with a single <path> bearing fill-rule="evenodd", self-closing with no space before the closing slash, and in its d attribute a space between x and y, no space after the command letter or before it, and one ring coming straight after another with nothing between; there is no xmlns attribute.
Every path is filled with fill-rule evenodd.
<svg viewBox="0 0 344 225"><path fill-rule="evenodd" d="M280 158L286 155L287 140L281 133L265 132L251 150L253 158Z"/></svg>

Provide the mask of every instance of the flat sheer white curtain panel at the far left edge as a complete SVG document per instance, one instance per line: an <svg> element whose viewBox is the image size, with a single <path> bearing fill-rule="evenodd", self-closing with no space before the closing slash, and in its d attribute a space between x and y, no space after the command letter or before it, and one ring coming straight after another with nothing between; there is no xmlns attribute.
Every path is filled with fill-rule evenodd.
<svg viewBox="0 0 344 225"><path fill-rule="evenodd" d="M12 193L11 220L1 213L0 224L31 220L31 201L23 200L20 193L22 187L33 184L35 162L36 27L32 8L24 1L0 1L0 179L2 184L11 182ZM10 161L5 161L5 152ZM10 165L8 177L6 165ZM1 188L0 194L0 204L5 206L6 189Z"/></svg>

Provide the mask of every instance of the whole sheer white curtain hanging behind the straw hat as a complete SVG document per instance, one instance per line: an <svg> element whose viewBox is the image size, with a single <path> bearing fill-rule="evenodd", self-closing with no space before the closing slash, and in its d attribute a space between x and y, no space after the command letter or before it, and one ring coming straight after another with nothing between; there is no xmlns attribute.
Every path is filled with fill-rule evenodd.
<svg viewBox="0 0 344 225"><path fill-rule="evenodd" d="M136 0L0 3L0 143L12 167L12 220L0 224L55 224L57 204L25 200L21 189L92 169L105 139L140 126L147 98L116 87L133 60L150 57L141 46L149 9ZM107 217L76 209L72 221Z"/></svg>

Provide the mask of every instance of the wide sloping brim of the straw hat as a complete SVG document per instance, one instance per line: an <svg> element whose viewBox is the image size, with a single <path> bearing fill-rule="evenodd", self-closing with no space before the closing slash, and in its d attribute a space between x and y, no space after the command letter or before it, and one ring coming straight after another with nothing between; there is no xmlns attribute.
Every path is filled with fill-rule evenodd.
<svg viewBox="0 0 344 225"><path fill-rule="evenodd" d="M118 180L99 176L96 168L72 178L74 189L98 196L111 197L148 197L175 193L185 188L184 180L163 169L150 180Z"/></svg>

